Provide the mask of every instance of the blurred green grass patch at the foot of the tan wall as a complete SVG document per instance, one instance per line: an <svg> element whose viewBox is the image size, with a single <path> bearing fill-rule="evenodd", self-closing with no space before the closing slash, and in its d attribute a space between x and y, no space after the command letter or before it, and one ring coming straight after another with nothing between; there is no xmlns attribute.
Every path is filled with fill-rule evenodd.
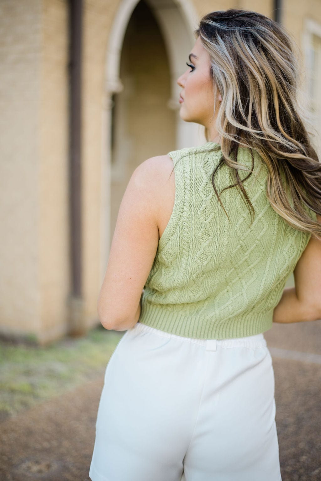
<svg viewBox="0 0 321 481"><path fill-rule="evenodd" d="M0 341L0 419L102 374L124 333L99 326L49 346Z"/></svg>

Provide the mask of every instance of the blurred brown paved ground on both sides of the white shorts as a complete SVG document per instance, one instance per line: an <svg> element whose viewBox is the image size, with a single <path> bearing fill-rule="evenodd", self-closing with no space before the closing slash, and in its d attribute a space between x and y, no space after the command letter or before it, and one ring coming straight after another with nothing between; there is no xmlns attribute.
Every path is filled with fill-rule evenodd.
<svg viewBox="0 0 321 481"><path fill-rule="evenodd" d="M321 321L274 325L265 338L275 373L282 480L321 481ZM0 423L1 481L89 481L104 370Z"/></svg>

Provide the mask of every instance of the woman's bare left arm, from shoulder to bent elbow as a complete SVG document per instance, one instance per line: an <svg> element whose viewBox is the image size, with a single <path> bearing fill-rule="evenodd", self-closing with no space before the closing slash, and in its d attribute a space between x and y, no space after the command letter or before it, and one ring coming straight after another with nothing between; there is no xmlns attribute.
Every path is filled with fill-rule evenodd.
<svg viewBox="0 0 321 481"><path fill-rule="evenodd" d="M123 195L97 303L105 329L126 330L138 321L142 290L158 248L155 198L165 177L164 157L138 165Z"/></svg>

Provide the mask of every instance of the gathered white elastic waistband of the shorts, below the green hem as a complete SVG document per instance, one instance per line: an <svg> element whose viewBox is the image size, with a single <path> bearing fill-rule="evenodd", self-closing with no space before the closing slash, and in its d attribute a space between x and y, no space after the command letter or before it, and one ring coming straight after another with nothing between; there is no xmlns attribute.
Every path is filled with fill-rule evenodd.
<svg viewBox="0 0 321 481"><path fill-rule="evenodd" d="M138 332L152 332L158 336L167 337L167 338L176 338L180 341L185 342L192 342L194 344L206 346L207 350L215 350L216 346L219 345L221 347L235 347L235 346L244 346L244 347L265 347L267 345L266 339L263 333L255 334L253 336L247 337L239 337L235 339L195 339L190 337L183 337L177 336L176 334L171 334L170 332L165 332L160 329L152 328L151 326L147 326L141 322L137 322L135 326L132 328Z"/></svg>

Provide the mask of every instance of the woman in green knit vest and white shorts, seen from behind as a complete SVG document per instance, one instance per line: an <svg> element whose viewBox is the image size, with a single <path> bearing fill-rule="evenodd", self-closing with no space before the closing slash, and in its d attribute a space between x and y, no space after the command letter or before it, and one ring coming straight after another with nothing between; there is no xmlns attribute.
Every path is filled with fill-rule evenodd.
<svg viewBox="0 0 321 481"><path fill-rule="evenodd" d="M321 316L321 166L289 36L232 9L195 33L180 115L208 142L143 162L123 196L98 313L126 333L92 481L281 480L263 332Z"/></svg>

